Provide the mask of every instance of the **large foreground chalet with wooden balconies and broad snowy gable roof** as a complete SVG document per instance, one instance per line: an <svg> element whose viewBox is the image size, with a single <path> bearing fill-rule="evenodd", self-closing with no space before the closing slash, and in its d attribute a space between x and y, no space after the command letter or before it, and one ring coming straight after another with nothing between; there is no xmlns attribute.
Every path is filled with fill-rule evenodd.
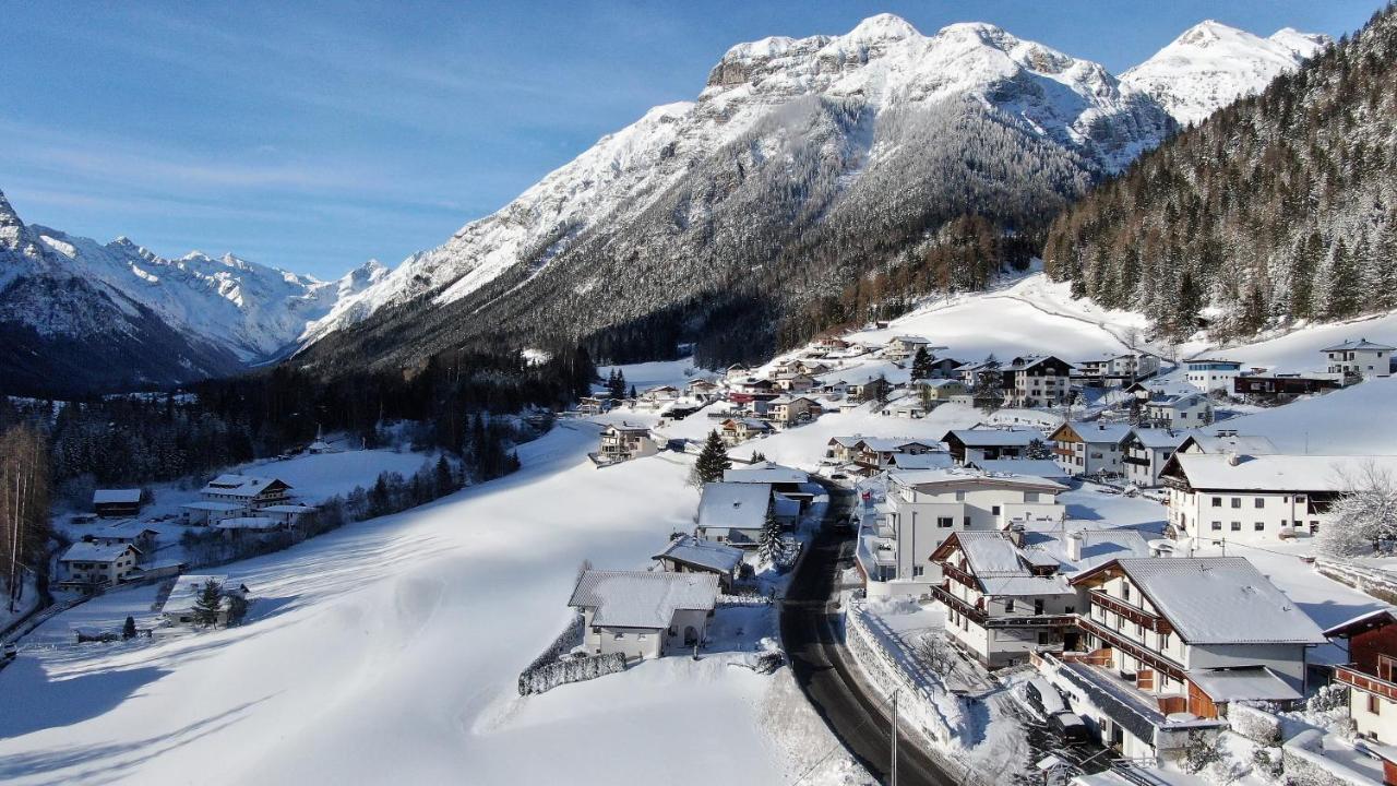
<svg viewBox="0 0 1397 786"><path fill-rule="evenodd" d="M1242 557L1112 559L1070 585L1080 593L1078 650L1035 660L1125 758L1217 731L1232 702L1301 701L1308 649L1324 643Z"/></svg>

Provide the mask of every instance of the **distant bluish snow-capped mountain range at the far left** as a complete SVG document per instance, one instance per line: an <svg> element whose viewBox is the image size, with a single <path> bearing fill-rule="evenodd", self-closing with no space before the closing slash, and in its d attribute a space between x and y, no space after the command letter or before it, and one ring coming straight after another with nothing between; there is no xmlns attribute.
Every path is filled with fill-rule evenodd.
<svg viewBox="0 0 1397 786"><path fill-rule="evenodd" d="M64 390L232 373L279 357L386 273L369 262L319 281L232 255L162 259L126 238L27 225L0 194L0 330L18 357L3 365L11 383L27 378L21 387ZM103 357L112 362L77 362Z"/></svg>

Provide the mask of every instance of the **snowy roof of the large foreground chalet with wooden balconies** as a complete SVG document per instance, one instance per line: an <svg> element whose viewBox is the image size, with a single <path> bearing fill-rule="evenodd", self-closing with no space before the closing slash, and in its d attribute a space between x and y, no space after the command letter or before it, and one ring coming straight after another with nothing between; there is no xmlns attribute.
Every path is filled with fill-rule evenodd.
<svg viewBox="0 0 1397 786"><path fill-rule="evenodd" d="M1245 557L1130 558L1101 568L1108 565L1119 565L1190 645L1326 641L1315 621Z"/></svg>

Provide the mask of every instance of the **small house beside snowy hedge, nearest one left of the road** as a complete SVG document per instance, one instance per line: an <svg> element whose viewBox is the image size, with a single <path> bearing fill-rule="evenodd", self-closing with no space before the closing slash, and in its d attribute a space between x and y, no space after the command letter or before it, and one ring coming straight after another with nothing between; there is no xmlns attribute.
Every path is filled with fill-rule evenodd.
<svg viewBox="0 0 1397 786"><path fill-rule="evenodd" d="M584 571L567 604L583 614L587 652L619 652L631 662L693 652L717 601L712 573Z"/></svg>

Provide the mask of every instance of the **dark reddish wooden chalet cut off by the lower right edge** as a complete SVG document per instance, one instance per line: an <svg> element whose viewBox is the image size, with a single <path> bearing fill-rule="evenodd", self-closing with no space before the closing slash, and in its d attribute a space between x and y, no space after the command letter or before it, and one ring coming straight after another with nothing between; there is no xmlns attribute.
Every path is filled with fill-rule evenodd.
<svg viewBox="0 0 1397 786"><path fill-rule="evenodd" d="M1334 681L1348 687L1354 731L1397 745L1397 615L1389 608L1370 611L1324 635L1348 641L1348 663L1334 667Z"/></svg>

